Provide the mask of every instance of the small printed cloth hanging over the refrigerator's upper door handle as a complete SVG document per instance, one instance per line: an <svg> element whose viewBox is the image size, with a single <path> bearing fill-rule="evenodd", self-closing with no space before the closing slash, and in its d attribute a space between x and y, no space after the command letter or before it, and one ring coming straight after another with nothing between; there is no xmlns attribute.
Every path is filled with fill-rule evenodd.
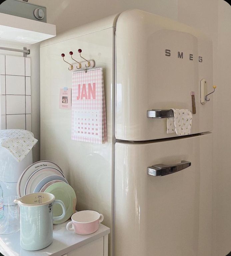
<svg viewBox="0 0 231 256"><path fill-rule="evenodd" d="M189 109L171 109L174 117L167 118L167 133L189 135L192 128L192 112Z"/></svg>

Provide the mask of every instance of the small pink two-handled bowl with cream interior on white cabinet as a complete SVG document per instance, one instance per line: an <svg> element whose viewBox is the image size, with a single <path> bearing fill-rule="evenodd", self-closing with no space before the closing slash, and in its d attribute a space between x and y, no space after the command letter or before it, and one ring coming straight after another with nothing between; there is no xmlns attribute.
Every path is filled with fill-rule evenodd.
<svg viewBox="0 0 231 256"><path fill-rule="evenodd" d="M80 211L71 216L71 221L67 223L67 230L75 231L79 235L89 235L99 229L99 224L103 221L103 215L95 211Z"/></svg>

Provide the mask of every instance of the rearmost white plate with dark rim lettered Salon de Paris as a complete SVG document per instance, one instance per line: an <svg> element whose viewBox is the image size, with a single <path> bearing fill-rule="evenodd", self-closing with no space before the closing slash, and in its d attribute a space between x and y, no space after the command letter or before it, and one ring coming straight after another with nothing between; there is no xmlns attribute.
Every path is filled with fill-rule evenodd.
<svg viewBox="0 0 231 256"><path fill-rule="evenodd" d="M19 197L24 196L24 190L25 190L25 186L27 183L28 178L31 176L31 174L38 170L41 169L43 167L54 167L58 170L61 170L61 168L56 165L55 163L48 161L48 160L42 160L42 161L38 161L32 165L30 165L28 168L26 168L26 170L21 174L21 176L18 179L18 184L17 184L17 193Z"/></svg>

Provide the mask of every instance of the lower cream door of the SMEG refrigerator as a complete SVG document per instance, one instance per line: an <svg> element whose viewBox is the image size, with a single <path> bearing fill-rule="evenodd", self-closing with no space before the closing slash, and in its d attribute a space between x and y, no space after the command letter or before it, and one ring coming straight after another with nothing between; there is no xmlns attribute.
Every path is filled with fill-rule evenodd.
<svg viewBox="0 0 231 256"><path fill-rule="evenodd" d="M116 143L115 175L116 256L212 255L212 134Z"/></svg>

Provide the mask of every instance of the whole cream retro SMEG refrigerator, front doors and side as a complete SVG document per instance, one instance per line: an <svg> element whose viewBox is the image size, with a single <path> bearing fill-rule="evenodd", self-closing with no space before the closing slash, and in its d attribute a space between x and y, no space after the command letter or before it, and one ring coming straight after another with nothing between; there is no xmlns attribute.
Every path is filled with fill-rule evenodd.
<svg viewBox="0 0 231 256"><path fill-rule="evenodd" d="M71 86L60 55L73 63L68 52L79 60L78 48L103 67L104 145L72 141L71 110L58 108L60 88ZM129 10L49 39L40 52L41 158L64 170L77 210L104 214L111 255L211 256L212 95L204 100L213 86L211 41ZM192 91L191 135L167 134L168 109L192 110Z"/></svg>

